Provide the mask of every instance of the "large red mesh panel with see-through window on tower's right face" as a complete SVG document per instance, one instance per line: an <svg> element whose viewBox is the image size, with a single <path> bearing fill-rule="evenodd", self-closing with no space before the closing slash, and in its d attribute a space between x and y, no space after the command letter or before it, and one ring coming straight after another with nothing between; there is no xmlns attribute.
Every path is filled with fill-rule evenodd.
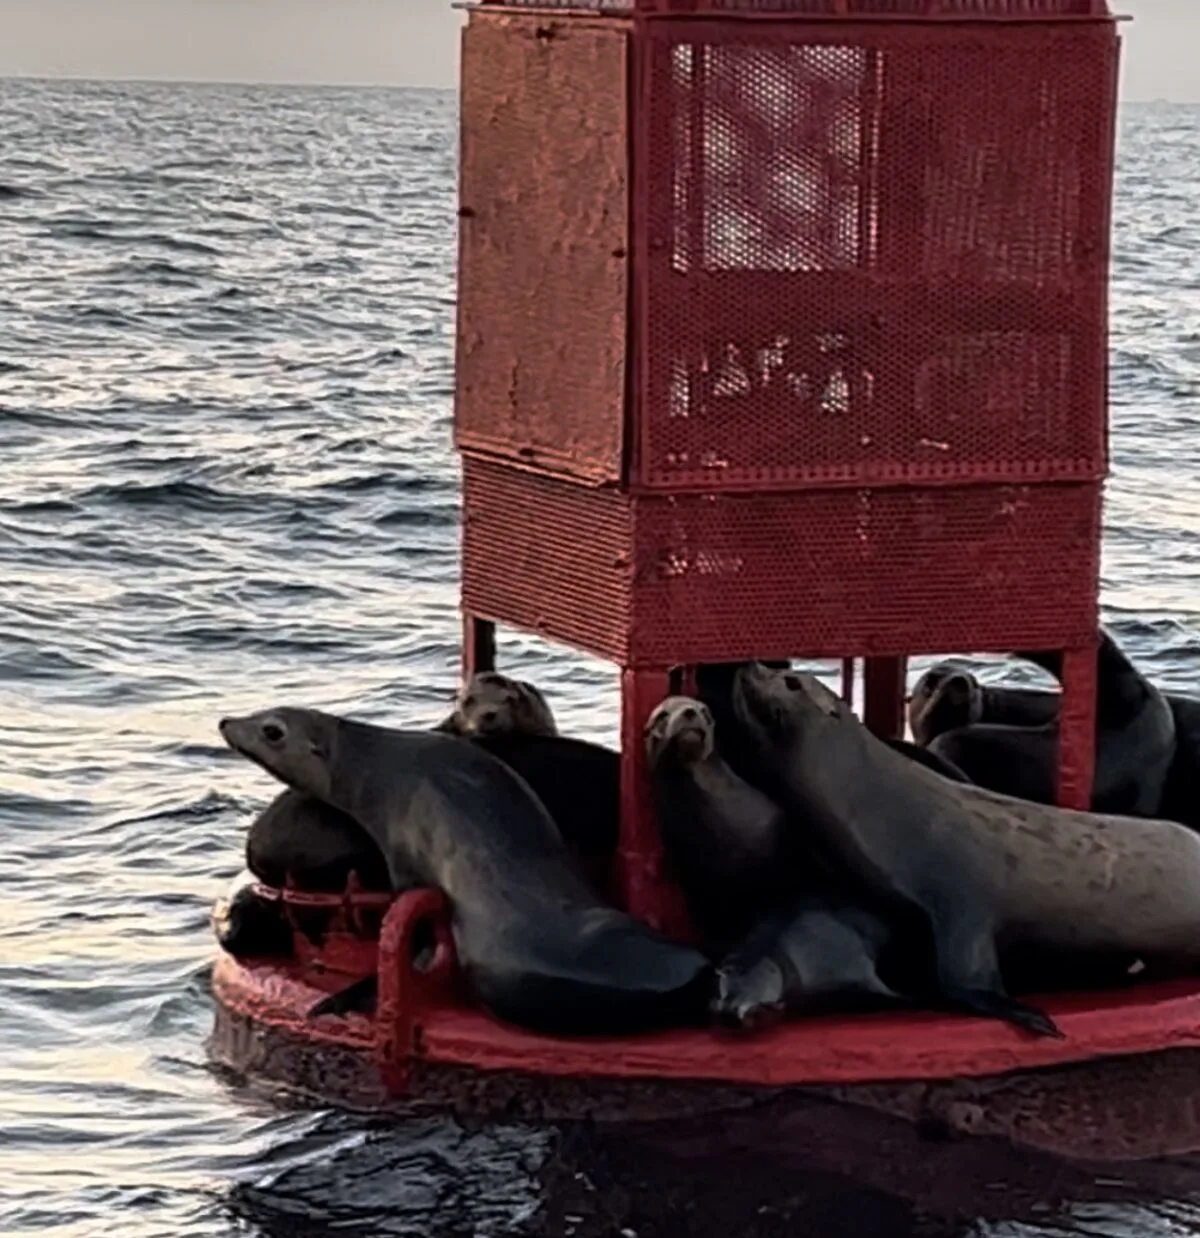
<svg viewBox="0 0 1200 1238"><path fill-rule="evenodd" d="M648 24L638 480L1103 475L1116 46Z"/></svg>

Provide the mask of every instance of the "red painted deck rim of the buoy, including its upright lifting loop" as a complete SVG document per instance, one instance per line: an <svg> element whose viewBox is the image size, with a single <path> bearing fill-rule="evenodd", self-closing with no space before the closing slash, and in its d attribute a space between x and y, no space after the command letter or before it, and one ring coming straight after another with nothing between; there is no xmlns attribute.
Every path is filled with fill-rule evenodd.
<svg viewBox="0 0 1200 1238"><path fill-rule="evenodd" d="M420 972L417 930L437 950ZM670 1030L563 1040L502 1024L463 999L441 894L401 895L379 946L379 1015L310 1020L328 992L302 968L220 956L213 987L232 1014L302 1040L374 1056L389 1089L404 1091L417 1061L556 1076L724 1081L752 1086L850 1084L978 1078L1105 1057L1200 1046L1200 980L1038 999L1063 1040L1030 1036L993 1019L931 1011L807 1018L749 1037Z"/></svg>

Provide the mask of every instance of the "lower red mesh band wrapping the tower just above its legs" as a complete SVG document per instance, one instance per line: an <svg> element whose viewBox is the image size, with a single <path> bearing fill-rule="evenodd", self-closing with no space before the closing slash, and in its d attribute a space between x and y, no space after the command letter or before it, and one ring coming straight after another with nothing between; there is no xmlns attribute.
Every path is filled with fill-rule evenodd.
<svg viewBox="0 0 1200 1238"><path fill-rule="evenodd" d="M1093 484L623 496L463 461L463 605L623 665L1086 645Z"/></svg>

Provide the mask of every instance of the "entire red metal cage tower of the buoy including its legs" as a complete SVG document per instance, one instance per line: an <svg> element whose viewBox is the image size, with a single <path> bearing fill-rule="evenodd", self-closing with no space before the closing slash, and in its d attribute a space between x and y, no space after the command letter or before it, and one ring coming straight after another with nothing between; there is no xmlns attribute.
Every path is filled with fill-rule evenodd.
<svg viewBox="0 0 1200 1238"><path fill-rule="evenodd" d="M698 664L1064 654L1093 765L1120 41L1101 0L528 0L462 43L467 671L615 662L622 885L663 925L641 728Z"/></svg>

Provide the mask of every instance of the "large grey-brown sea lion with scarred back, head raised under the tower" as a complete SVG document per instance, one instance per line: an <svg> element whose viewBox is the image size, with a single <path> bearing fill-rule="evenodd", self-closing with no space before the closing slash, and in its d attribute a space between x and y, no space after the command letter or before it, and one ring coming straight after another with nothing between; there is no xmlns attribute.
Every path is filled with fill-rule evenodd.
<svg viewBox="0 0 1200 1238"><path fill-rule="evenodd" d="M916 912L954 1005L1058 1035L1013 1000L1008 946L1200 963L1200 837L1165 821L1032 803L951 782L880 743L810 675L747 667L734 706L768 790L872 910Z"/></svg>

